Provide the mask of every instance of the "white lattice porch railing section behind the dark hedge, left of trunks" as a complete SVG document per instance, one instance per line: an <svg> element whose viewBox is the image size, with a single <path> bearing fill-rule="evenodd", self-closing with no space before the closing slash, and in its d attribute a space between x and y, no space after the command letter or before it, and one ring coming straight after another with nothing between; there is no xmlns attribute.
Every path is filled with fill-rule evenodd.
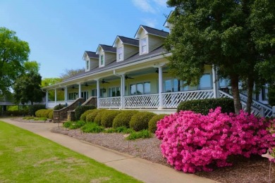
<svg viewBox="0 0 275 183"><path fill-rule="evenodd" d="M191 101L196 99L212 99L214 92L212 89L195 90L186 92L169 92L163 93L164 108L177 108L181 101Z"/></svg>

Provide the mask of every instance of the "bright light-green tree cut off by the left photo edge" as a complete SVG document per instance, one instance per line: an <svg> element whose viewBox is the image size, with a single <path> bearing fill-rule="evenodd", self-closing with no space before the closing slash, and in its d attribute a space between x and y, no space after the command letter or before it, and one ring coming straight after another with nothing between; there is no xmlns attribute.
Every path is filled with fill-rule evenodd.
<svg viewBox="0 0 275 183"><path fill-rule="evenodd" d="M30 48L16 37L16 32L0 27L0 95L6 94L24 71Z"/></svg>

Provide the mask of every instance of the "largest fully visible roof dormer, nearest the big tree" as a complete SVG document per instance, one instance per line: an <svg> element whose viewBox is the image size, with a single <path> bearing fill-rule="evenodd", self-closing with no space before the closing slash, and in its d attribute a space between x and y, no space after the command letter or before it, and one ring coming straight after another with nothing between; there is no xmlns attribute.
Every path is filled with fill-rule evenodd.
<svg viewBox="0 0 275 183"><path fill-rule="evenodd" d="M135 38L139 39L140 55L149 53L159 46L164 44L164 39L169 35L169 32L157 30L152 27L140 25Z"/></svg>

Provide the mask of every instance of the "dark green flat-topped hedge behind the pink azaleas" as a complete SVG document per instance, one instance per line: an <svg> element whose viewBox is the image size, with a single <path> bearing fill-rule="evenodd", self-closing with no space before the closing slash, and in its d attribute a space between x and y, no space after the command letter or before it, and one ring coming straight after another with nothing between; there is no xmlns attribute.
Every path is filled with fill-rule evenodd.
<svg viewBox="0 0 275 183"><path fill-rule="evenodd" d="M234 102L233 99L229 98L182 101L178 104L177 112L194 111L195 113L207 115L210 109L217 107L221 107L222 113L234 113Z"/></svg>

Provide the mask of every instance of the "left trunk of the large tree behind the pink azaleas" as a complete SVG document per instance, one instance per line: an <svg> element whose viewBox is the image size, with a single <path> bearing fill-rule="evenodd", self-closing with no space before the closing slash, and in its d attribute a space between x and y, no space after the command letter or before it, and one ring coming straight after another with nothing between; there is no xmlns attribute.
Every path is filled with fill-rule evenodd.
<svg viewBox="0 0 275 183"><path fill-rule="evenodd" d="M236 75L231 75L231 88L232 88L232 95L233 95L233 101L234 101L234 108L235 108L235 113L239 114L240 110L242 109L242 105L240 103L240 93L239 93L239 80L238 76Z"/></svg>

